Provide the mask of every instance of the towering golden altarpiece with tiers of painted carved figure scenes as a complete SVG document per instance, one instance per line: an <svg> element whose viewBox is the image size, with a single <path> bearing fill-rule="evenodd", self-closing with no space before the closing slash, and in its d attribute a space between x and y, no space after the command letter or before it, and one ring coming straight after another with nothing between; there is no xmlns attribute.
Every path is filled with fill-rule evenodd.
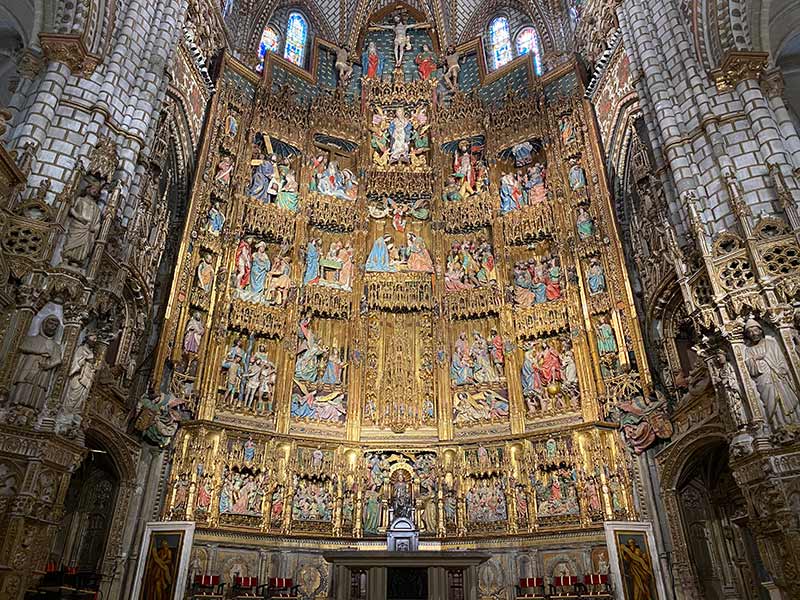
<svg viewBox="0 0 800 600"><path fill-rule="evenodd" d="M369 39L313 95L277 57L222 61L156 360L192 415L164 517L196 521L195 572L309 596L317 553L385 547L403 503L423 547L514 548L488 596L599 572L603 522L637 517L609 414L649 381L578 67L467 92Z"/></svg>

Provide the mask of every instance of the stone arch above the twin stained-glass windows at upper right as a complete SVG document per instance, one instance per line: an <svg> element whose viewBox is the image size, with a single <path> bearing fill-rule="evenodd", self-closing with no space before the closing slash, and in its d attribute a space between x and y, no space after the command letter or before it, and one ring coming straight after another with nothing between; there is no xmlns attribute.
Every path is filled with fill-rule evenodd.
<svg viewBox="0 0 800 600"><path fill-rule="evenodd" d="M467 42L476 37L484 37L489 22L495 15L503 14L509 18L512 39L523 25L532 24L539 34L542 55L556 50L555 36L547 15L537 2L523 3L519 0L490 0L481 2L469 17L464 29L459 33L458 43ZM513 18L517 15L516 18ZM484 44L488 40L484 39Z"/></svg>

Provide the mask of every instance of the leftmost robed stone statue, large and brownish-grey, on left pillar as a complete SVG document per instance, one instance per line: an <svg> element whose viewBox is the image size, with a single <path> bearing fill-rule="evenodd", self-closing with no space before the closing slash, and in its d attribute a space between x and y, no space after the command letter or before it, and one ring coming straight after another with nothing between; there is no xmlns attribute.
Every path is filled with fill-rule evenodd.
<svg viewBox="0 0 800 600"><path fill-rule="evenodd" d="M10 394L12 405L34 410L44 406L56 367L62 360L61 345L54 339L60 325L57 316L49 315L39 326L39 333L26 336L20 344Z"/></svg>

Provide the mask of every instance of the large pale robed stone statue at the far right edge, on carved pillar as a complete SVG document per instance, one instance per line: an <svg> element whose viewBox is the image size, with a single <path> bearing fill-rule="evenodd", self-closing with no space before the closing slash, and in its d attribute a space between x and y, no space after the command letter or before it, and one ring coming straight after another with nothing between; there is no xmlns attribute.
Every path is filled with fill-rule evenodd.
<svg viewBox="0 0 800 600"><path fill-rule="evenodd" d="M798 423L800 399L778 341L755 319L744 326L744 362L755 383L767 422L774 429Z"/></svg>

